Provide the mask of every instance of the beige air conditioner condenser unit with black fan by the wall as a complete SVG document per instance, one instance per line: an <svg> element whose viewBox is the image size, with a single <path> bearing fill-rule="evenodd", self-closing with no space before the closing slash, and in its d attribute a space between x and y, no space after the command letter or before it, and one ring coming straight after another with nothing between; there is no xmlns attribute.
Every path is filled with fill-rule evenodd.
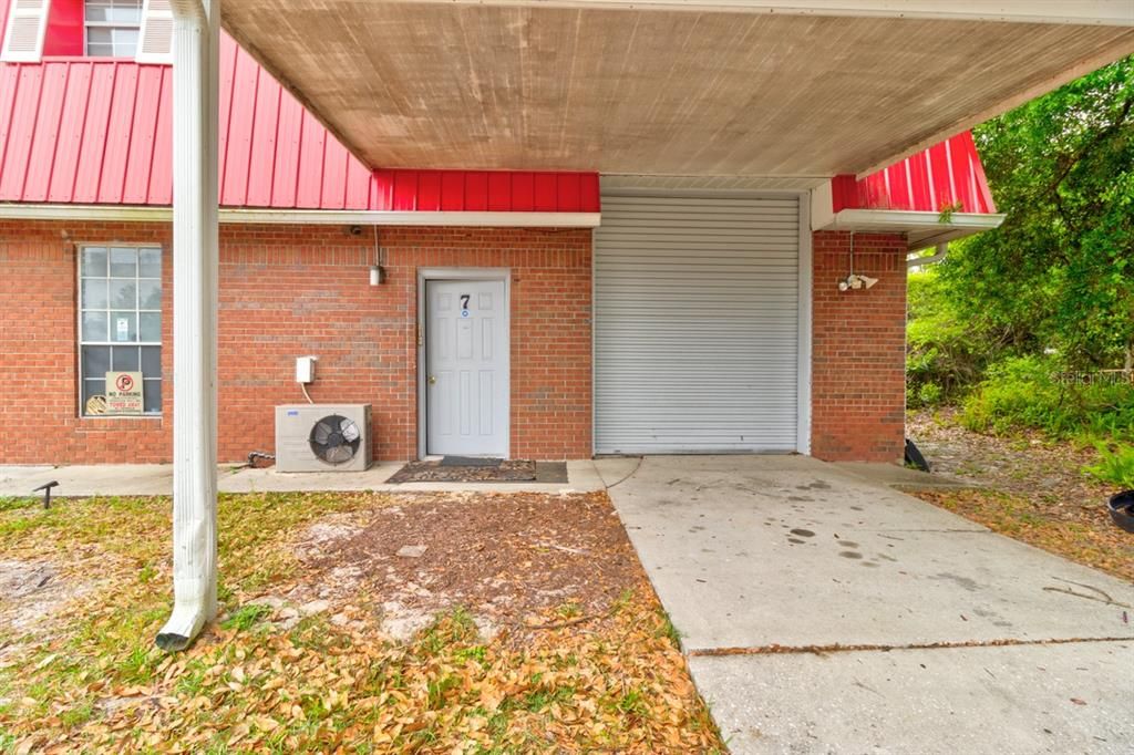
<svg viewBox="0 0 1134 755"><path fill-rule="evenodd" d="M370 416L370 404L276 407L276 470L365 470L373 450Z"/></svg>

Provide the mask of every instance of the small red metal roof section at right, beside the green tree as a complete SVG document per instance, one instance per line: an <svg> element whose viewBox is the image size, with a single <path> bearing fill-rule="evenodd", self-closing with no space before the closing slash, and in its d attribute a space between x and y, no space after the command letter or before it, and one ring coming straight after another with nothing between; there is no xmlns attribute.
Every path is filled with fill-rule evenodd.
<svg viewBox="0 0 1134 755"><path fill-rule="evenodd" d="M970 132L856 180L831 179L832 211L908 210L991 214L996 212L976 144Z"/></svg>

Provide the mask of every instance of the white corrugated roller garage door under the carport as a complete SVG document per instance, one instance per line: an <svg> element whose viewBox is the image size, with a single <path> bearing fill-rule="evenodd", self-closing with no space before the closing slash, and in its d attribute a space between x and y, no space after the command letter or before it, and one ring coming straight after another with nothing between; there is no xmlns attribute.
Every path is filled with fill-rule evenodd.
<svg viewBox="0 0 1134 755"><path fill-rule="evenodd" d="M603 196L595 451L797 448L799 201Z"/></svg>

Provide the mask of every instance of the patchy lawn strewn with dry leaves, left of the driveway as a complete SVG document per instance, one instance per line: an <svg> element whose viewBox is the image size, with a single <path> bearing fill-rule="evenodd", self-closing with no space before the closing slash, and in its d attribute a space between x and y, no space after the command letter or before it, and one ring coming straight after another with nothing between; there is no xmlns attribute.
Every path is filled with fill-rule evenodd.
<svg viewBox="0 0 1134 755"><path fill-rule="evenodd" d="M362 608L349 621L316 613L288 623L252 603L303 576L291 548L299 529L391 503L403 504L222 497L222 620L175 655L153 645L170 608L169 499L3 508L0 557L99 582L34 634L0 627L0 752L723 749L644 577L602 621L523 643L481 637L458 605L397 643ZM581 611L566 601L545 619Z"/></svg>

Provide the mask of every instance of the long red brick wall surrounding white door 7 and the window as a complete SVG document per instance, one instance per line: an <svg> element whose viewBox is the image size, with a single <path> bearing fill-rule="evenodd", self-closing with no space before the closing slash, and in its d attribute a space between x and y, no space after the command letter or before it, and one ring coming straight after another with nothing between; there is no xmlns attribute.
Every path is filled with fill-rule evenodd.
<svg viewBox="0 0 1134 755"><path fill-rule="evenodd" d="M162 366L171 373L164 223L0 222L0 463L168 461L171 383L160 418L78 417L75 244L167 249ZM374 456L417 452L420 266L511 269L511 452L591 455L591 232L382 229L388 281L369 285L370 229L221 228L219 457L271 451L277 404L303 400L295 357L320 357L319 402L369 402Z"/></svg>

